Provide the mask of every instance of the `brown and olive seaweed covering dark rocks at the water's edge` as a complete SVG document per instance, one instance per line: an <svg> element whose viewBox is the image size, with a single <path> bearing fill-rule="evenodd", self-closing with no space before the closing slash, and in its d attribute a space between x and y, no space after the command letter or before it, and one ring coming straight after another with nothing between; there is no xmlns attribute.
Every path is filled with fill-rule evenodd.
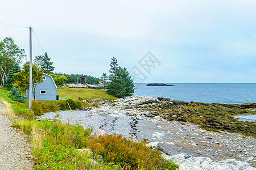
<svg viewBox="0 0 256 170"><path fill-rule="evenodd" d="M255 122L241 121L234 116L241 114L256 114L255 103L245 104L221 104L221 103L199 103L176 101L167 98L160 98L158 107L144 108L148 111L157 111L169 121L191 122L200 125L200 128L210 131L228 131L251 135L256 138Z"/></svg>

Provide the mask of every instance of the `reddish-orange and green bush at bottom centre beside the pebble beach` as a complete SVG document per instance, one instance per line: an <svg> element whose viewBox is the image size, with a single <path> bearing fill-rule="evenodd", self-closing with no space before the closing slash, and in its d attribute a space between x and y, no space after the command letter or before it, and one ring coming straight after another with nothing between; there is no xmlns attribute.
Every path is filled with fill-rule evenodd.
<svg viewBox="0 0 256 170"><path fill-rule="evenodd" d="M177 165L163 159L160 151L153 150L144 142L134 142L122 135L111 134L98 138L90 137L89 148L102 155L105 162L126 164L129 169L176 169Z"/></svg>

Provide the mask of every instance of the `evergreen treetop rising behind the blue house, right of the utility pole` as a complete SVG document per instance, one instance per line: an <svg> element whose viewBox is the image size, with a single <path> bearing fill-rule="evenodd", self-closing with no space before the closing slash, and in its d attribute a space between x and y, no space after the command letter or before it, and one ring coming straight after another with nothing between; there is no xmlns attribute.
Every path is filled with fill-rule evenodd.
<svg viewBox="0 0 256 170"><path fill-rule="evenodd" d="M51 62L50 59L47 53L45 53L44 56L36 56L35 65L39 66L44 73L49 74L54 70L52 66L53 62Z"/></svg>

